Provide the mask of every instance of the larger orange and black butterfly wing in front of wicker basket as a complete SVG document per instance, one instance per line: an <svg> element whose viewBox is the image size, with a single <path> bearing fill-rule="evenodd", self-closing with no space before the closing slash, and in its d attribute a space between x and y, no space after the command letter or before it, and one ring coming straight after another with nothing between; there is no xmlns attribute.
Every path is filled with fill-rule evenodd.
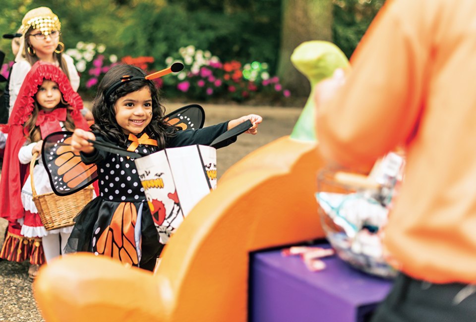
<svg viewBox="0 0 476 322"><path fill-rule="evenodd" d="M84 164L71 150L72 132L54 132L43 140L42 159L55 194L67 196L98 178L96 164Z"/></svg>

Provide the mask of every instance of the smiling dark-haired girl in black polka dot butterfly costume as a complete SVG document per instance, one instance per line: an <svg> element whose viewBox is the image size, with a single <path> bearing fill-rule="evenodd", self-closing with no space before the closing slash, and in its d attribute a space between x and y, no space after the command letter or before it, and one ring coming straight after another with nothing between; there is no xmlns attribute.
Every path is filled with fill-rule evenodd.
<svg viewBox="0 0 476 322"><path fill-rule="evenodd" d="M143 70L131 65L111 68L99 84L93 103L93 132L74 131L73 151L80 151L84 163L95 163L99 169L100 196L76 217L66 252L94 252L153 270L163 245L154 225L158 218L151 214L135 163L96 149L88 140L106 141L149 155L164 148L210 145L216 137L248 119L253 126L247 132L256 134L262 118L250 114L202 129L181 131L163 120L164 107L158 90L145 76ZM222 146L235 141L236 137Z"/></svg>

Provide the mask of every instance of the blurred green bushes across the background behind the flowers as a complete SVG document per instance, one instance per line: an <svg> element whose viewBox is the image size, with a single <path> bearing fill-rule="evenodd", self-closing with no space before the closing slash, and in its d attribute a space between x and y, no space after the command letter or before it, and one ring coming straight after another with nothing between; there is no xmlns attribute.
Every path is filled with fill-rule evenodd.
<svg viewBox="0 0 476 322"><path fill-rule="evenodd" d="M384 2L384 0L294 1L308 4L313 1L332 1L332 6L329 6L332 12L322 13L333 16L332 39L328 40L333 41L348 56L353 53L370 21ZM84 69L78 68L83 69L81 89L89 94L95 89L95 84L91 84L96 81L92 78L100 80L112 64L121 59L124 61L124 57L129 56L139 60L152 57L152 60L147 60L146 66L149 71L154 71L167 67L166 59L169 57L173 57L174 60L179 59L180 49L190 48L190 46L196 50L213 53L222 64L238 62L242 67L240 72L245 70L244 66L249 66L253 62L264 63L265 72L271 79L278 73L280 54L283 55L282 47L280 47L283 36L282 10L288 9L288 6L283 5L284 0L8 0L2 2L0 7L2 34L15 32L21 18L29 9L46 5L60 17L62 41L67 49L78 50L84 58L87 52L86 44L92 44L89 45L90 49L94 46L93 57L85 62L87 66L84 66ZM0 49L7 54L5 61L13 59L9 46L10 42L7 40L2 40L0 43ZM75 60L78 62L77 58ZM223 76L224 71L217 68L214 72ZM257 87L256 92L264 89L262 82L264 79L260 77L261 74L252 80L251 89ZM273 79L276 80L276 78ZM221 80L226 83L225 79L221 78ZM88 81L90 86L86 88ZM200 79L190 79L189 84L194 86L198 81ZM165 82L165 85L174 83L172 85L175 86L176 91L171 91L171 94L184 93L183 90L177 88L177 84L183 82L183 79ZM241 92L250 88L249 78L243 77L240 82ZM279 78L276 83L279 83ZM234 85L236 84L228 84L228 86L237 87ZM288 86L291 85L288 84ZM280 88L281 93L285 90L281 84L276 88ZM251 97L248 94L253 92L246 90L248 94L244 98L236 92L232 95L227 89L212 89L215 93L222 93L222 95L223 93L230 94L228 97L237 101ZM199 89L197 91L197 88L191 88L189 94L192 95L192 93L197 93L197 97L204 99L209 97ZM271 97L270 92L266 95ZM291 94L288 91L280 98L288 99L290 95L294 95L293 90Z"/></svg>

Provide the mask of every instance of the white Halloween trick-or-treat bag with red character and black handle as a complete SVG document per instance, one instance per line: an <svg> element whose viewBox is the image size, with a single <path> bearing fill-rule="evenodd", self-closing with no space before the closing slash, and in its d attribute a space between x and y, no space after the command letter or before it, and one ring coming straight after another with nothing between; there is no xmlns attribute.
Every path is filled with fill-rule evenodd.
<svg viewBox="0 0 476 322"><path fill-rule="evenodd" d="M167 243L192 208L216 188L214 147L251 126L249 121L241 123L210 146L168 148L134 160L161 243Z"/></svg>

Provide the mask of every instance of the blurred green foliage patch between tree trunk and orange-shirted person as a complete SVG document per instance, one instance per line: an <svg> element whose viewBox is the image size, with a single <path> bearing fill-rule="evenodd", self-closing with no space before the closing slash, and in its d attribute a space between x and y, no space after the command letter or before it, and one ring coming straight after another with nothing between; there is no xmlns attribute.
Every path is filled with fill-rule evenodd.
<svg viewBox="0 0 476 322"><path fill-rule="evenodd" d="M350 57L385 0L333 1L333 42Z"/></svg>

